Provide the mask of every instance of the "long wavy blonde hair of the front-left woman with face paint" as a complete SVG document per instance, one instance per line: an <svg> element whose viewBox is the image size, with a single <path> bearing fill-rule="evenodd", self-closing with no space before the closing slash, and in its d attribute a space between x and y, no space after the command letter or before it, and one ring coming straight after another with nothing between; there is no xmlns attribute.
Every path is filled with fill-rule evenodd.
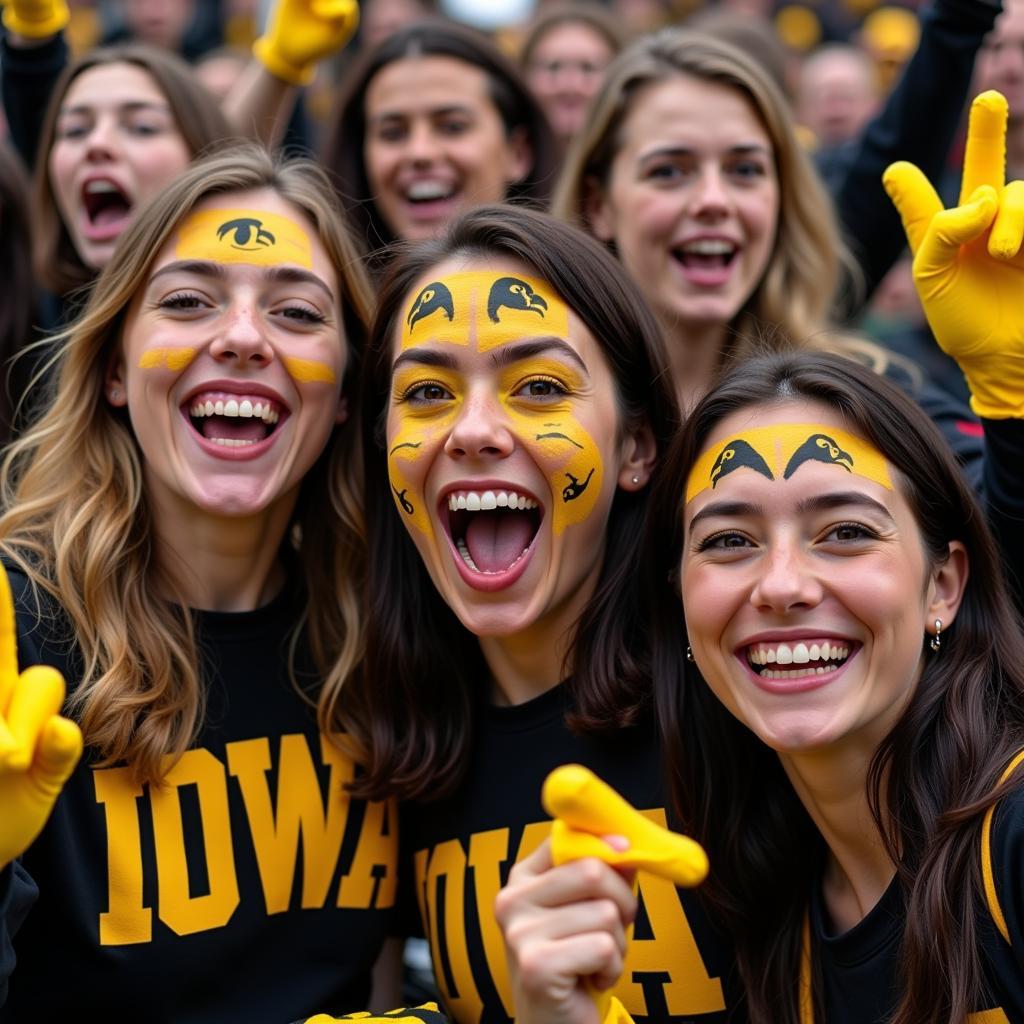
<svg viewBox="0 0 1024 1024"><path fill-rule="evenodd" d="M255 188L272 188L315 225L338 274L349 350L345 388L354 415L303 480L285 542L307 595L290 664L301 634L322 680L306 696L321 728L332 731L341 688L361 660L362 477L349 382L358 373L371 293L318 167L243 145L193 164L155 198L125 232L80 319L58 338L48 411L0 467L0 552L27 573L38 598L45 592L56 600L81 650L71 713L102 764L127 761L140 780L159 780L165 757L176 759L195 741L204 690L191 615L155 558L139 449L126 413L104 398L104 377L126 309L182 217L211 196Z"/></svg>

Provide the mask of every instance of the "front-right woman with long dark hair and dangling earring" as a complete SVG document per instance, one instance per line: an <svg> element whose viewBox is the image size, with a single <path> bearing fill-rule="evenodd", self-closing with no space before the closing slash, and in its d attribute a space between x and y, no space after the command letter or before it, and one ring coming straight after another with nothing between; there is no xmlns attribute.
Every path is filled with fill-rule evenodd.
<svg viewBox="0 0 1024 1024"><path fill-rule="evenodd" d="M938 431L866 368L776 355L712 389L667 466L647 551L658 719L748 1018L1024 1019L1024 636ZM517 1020L583 1021L595 968L538 955L558 964L538 922L571 909L543 852L503 895ZM573 902L615 891L595 867ZM606 925L567 932L614 945Z"/></svg>

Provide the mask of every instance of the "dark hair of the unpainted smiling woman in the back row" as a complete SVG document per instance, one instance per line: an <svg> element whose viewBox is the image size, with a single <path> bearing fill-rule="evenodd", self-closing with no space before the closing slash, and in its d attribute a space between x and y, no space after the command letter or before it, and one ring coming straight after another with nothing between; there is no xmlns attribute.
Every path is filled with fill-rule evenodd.
<svg viewBox="0 0 1024 1024"><path fill-rule="evenodd" d="M486 76L490 99L506 135L525 133L531 165L509 186L509 200L547 204L557 174L558 147L547 118L512 63L483 36L451 22L425 20L389 36L368 51L341 85L332 127L321 162L336 180L339 195L356 232L371 251L395 241L374 204L367 176L366 98L377 73L409 56L444 56L479 68Z"/></svg>

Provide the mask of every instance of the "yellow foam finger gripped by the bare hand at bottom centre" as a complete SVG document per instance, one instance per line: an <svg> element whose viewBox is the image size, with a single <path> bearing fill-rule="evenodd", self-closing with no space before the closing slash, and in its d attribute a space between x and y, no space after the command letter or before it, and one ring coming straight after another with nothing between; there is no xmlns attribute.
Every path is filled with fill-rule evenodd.
<svg viewBox="0 0 1024 1024"><path fill-rule="evenodd" d="M583 765L562 765L545 779L544 809L551 826L551 859L564 864L596 857L614 867L642 868L691 888L708 876L708 854L686 836L656 825L631 807L611 786ZM615 850L601 836L622 836L628 850ZM632 1018L609 991L591 989L603 1024L627 1024Z"/></svg>

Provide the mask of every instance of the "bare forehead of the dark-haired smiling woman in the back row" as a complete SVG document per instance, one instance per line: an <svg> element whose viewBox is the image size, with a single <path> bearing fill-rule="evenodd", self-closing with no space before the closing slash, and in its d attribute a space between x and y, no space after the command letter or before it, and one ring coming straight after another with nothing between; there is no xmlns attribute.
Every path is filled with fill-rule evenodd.
<svg viewBox="0 0 1024 1024"><path fill-rule="evenodd" d="M457 57L413 56L392 60L367 88L367 117L415 113L437 106L489 103L486 73Z"/></svg>

